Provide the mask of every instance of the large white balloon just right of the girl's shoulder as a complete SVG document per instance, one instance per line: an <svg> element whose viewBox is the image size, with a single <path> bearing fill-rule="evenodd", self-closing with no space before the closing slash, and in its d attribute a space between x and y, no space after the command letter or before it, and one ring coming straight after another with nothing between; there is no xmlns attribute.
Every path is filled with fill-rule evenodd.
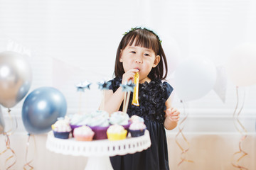
<svg viewBox="0 0 256 170"><path fill-rule="evenodd" d="M181 62L175 76L175 90L183 101L205 96L216 81L215 65L203 58L191 58Z"/></svg>

